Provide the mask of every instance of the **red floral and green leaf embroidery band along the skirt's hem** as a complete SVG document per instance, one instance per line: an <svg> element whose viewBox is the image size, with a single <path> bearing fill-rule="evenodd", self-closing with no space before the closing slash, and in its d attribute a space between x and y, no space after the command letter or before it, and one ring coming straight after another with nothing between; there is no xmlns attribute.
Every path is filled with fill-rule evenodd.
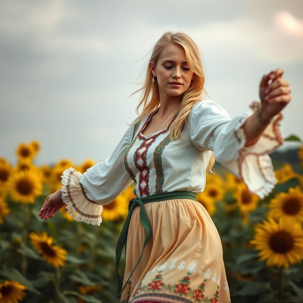
<svg viewBox="0 0 303 303"><path fill-rule="evenodd" d="M183 277L181 280L179 280L180 283L178 284L165 284L163 281L163 277L161 275L162 271L159 271L158 275L153 278L153 280L148 284L148 285L142 285L142 282L138 285L137 289L134 292L133 299L131 302L135 300L135 298L139 297L146 297L148 296L149 298L152 297L158 298L158 297L163 297L162 291L169 291L172 295L165 294L167 298L175 299L176 302L190 302L187 301L186 299L192 300L197 303L218 303L219 301L219 291L218 289L220 288L219 285L217 285L217 290L213 294L212 298L208 298L207 296L204 295L205 292L205 282L208 281L209 279L204 279L204 281L198 285L198 288L192 289L190 287L190 275L191 272L187 272L187 276ZM146 294L145 294L146 293ZM177 298L176 298L177 296ZM230 302L231 303L231 302Z"/></svg>

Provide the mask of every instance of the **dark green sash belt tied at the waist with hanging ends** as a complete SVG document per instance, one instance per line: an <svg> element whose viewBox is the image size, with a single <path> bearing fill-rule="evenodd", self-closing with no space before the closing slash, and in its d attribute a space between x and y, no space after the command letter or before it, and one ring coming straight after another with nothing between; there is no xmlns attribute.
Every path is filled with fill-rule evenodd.
<svg viewBox="0 0 303 303"><path fill-rule="evenodd" d="M117 242L117 248L116 248L116 274L117 274L117 281L118 281L117 299L121 298L122 291L124 290L125 286L127 285L128 281L131 278L136 267L138 266L138 264L142 258L142 255L143 255L144 248L145 248L147 242L149 241L149 239L151 238L151 227L149 225L148 217L147 217L143 204L149 203L149 202L156 202L156 201L172 200L172 199L191 199L191 200L197 201L196 194L192 191L161 192L161 193L158 193L155 195L150 195L150 196L146 196L146 197L142 197L142 198L136 197L136 198L133 198L131 201L129 201L128 215L127 215L125 223L123 225L121 234L120 234L118 242ZM127 234L128 234L128 227L129 227L129 223L131 221L131 217L132 217L134 208L137 205L140 206L140 220L141 220L142 226L145 228L145 231L146 231L145 241L143 244L141 256L140 256L137 264L135 265L135 268L133 269L132 273L129 275L127 282L125 283L125 285L122 288L122 280L121 280L121 277L118 272L119 261L121 258L123 245L125 245L125 253L126 253L126 240L127 240ZM136 248L134 248L134 249L136 249Z"/></svg>

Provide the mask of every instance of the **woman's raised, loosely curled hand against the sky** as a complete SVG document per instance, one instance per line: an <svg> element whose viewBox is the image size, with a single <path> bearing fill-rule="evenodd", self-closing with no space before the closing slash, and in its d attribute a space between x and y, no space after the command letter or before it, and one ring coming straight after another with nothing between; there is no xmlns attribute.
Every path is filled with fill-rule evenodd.
<svg viewBox="0 0 303 303"><path fill-rule="evenodd" d="M261 100L260 114L270 120L277 115L291 100L289 83L282 79L284 70L277 68L263 76L260 82L259 96ZM268 82L271 81L270 84Z"/></svg>

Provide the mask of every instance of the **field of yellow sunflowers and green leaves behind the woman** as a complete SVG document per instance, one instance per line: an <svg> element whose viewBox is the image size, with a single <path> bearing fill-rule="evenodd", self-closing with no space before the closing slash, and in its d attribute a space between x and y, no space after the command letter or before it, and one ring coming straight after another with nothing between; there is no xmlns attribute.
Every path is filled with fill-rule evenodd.
<svg viewBox="0 0 303 303"><path fill-rule="evenodd" d="M65 208L43 220L62 172L95 163L38 166L39 150L38 141L19 144L14 166L0 158L0 303L118 303L115 248L133 185L103 206L100 226L76 222ZM303 145L298 157L298 165L273 161L278 184L262 200L225 170L209 174L197 195L221 237L232 303L303 299Z"/></svg>

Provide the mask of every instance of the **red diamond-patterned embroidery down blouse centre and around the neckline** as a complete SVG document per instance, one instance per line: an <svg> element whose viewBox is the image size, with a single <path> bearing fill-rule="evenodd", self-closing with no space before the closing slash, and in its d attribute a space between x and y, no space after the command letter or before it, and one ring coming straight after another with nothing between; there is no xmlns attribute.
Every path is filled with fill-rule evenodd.
<svg viewBox="0 0 303 303"><path fill-rule="evenodd" d="M134 154L134 162L135 166L140 171L139 174L139 192L140 192L140 197L143 196L149 196L149 187L148 187L148 181L149 181L149 168L146 163L146 154L148 151L148 148L155 142L156 138L158 136L165 134L168 132L169 127L171 126L171 123L174 122L177 114L174 116L174 118L171 120L169 123L168 127L164 129L163 131L151 136L150 138L145 138L142 136L141 132L145 128L145 125L147 122L151 119L153 115L155 115L156 112L158 112L159 108L157 108L155 111L153 111L148 118L146 119L144 125L142 126L140 132L138 133L138 139L143 140L141 145L136 149L135 154Z"/></svg>

